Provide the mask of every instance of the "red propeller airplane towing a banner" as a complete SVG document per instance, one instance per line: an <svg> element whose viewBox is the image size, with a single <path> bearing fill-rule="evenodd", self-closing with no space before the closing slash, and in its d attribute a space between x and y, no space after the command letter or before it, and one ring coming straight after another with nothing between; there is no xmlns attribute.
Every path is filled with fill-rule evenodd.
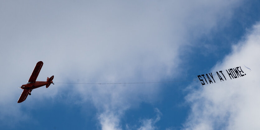
<svg viewBox="0 0 260 130"><path fill-rule="evenodd" d="M41 69L42 65L43 65L43 62L39 61L35 65L34 70L32 71L31 77L28 80L27 84L23 84L21 87L19 87L19 88L23 89L23 92L22 92L20 98L18 99L17 103L21 103L21 102L25 101L28 94L31 95L32 89L36 89L36 88L39 88L44 85L46 85L46 88L48 88L50 86L50 84L54 84L52 81L54 78L54 75L52 75L50 78L47 77L47 81L36 81L36 79L40 73L40 69Z"/></svg>

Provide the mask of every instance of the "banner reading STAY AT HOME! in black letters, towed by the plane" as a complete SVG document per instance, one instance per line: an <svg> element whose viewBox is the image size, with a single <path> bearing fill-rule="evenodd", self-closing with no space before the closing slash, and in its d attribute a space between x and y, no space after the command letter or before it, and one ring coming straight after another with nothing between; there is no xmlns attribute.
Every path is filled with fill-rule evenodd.
<svg viewBox="0 0 260 130"><path fill-rule="evenodd" d="M227 70L220 70L213 73L198 75L198 78L202 85L206 85L206 84L212 84L216 82L222 82L225 80L243 77L250 71L251 69L243 65L243 66L239 66Z"/></svg>

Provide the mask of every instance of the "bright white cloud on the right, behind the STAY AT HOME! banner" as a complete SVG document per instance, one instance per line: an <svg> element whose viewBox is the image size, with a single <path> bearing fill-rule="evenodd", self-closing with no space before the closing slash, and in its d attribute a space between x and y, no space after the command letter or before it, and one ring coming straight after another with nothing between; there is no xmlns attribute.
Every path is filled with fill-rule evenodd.
<svg viewBox="0 0 260 130"><path fill-rule="evenodd" d="M192 90L187 96L191 113L184 129L259 129L260 113L260 24L253 26L245 39L233 46L231 54L212 68L212 71L245 64L252 71L236 80L211 84ZM192 84L193 86L195 84Z"/></svg>

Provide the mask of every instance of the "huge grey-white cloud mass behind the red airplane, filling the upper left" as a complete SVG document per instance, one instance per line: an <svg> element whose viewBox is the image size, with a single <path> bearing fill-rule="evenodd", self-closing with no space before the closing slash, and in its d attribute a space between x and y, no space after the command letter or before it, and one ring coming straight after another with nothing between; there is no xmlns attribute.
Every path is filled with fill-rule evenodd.
<svg viewBox="0 0 260 130"><path fill-rule="evenodd" d="M54 82L87 83L174 78L171 74L182 62L179 49L230 17L239 4L224 0L3 3L0 79L5 91L0 91L4 104L0 116L6 114L3 109L17 104L22 91L17 88L26 83L39 60L44 65L38 80L51 75ZM64 89L71 89L61 86L34 90L27 103L16 105L7 116L21 118L13 114L21 106L36 107L37 101L56 99ZM92 102L102 117L102 129L120 129L125 110L158 100L160 92L154 84L74 86L68 96L73 100L73 95L79 95L78 104Z"/></svg>

